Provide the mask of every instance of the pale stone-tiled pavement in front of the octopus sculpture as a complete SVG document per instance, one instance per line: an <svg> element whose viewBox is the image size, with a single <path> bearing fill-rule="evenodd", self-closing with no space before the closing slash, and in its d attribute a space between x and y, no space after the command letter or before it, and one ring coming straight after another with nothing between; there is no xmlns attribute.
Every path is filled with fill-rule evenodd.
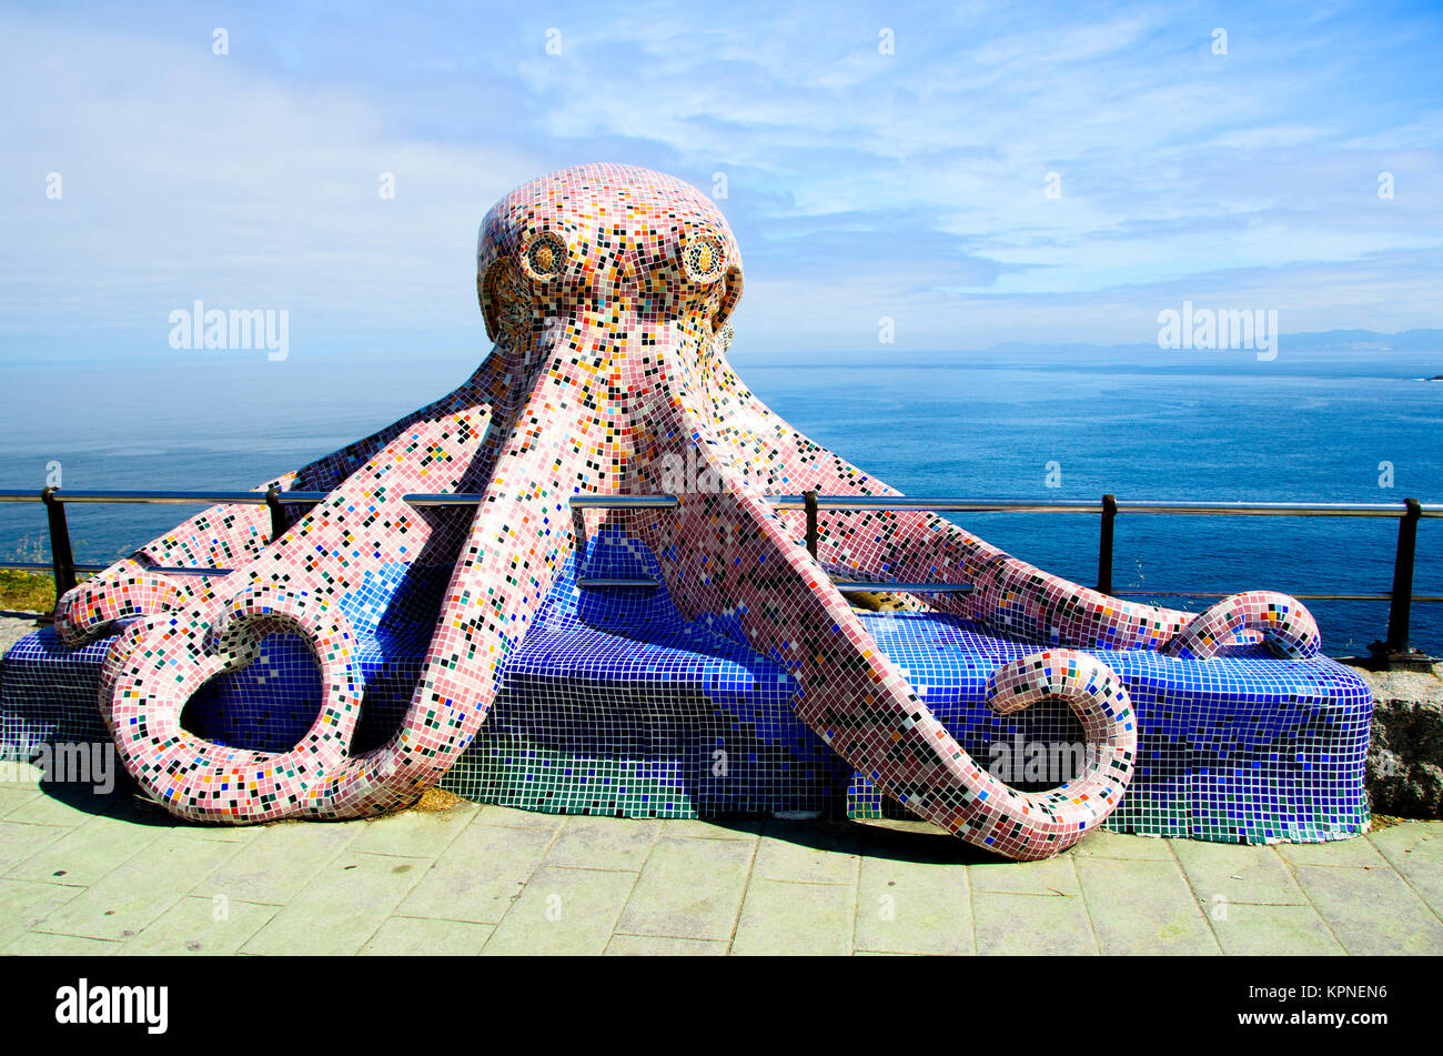
<svg viewBox="0 0 1443 1056"><path fill-rule="evenodd" d="M7 954L1443 954L1443 824L1322 845L1095 832L1049 861L918 827L457 804L179 825L0 785Z"/></svg>

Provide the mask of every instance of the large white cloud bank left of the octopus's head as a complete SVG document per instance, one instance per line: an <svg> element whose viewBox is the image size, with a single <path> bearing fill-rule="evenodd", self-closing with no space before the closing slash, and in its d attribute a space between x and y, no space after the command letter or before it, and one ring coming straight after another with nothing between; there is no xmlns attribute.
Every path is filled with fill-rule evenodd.
<svg viewBox="0 0 1443 1056"><path fill-rule="evenodd" d="M165 342L165 312L196 297L479 329L476 225L544 160L504 137L410 138L364 98L280 84L212 55L209 38L185 48L0 17L12 333L130 325Z"/></svg>

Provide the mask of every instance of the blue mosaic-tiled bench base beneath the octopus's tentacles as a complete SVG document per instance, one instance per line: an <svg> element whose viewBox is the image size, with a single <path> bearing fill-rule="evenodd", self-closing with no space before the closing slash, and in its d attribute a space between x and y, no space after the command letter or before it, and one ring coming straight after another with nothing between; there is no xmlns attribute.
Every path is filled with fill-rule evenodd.
<svg viewBox="0 0 1443 1056"><path fill-rule="evenodd" d="M589 576L659 577L633 541L593 542ZM431 626L423 615L436 612L444 571L387 578L380 570L375 589L358 591L348 612L367 681L356 750L382 743L410 701ZM1001 717L986 704L991 671L1042 646L935 613L861 619L981 765L1012 766L1000 776L1023 789L1053 788L1076 772L1071 749L1081 727L1065 705ZM49 629L22 639L0 672L0 750L108 740L95 707L107 646L68 649ZM1244 648L1202 662L1095 655L1127 684L1140 730L1137 770L1108 828L1227 842L1367 830L1372 701L1348 668ZM310 726L319 691L302 641L273 635L254 664L208 684L183 721L212 740L280 752ZM786 672L727 628L687 623L665 589L579 590L569 567L442 788L554 814L887 812L866 776L795 717L792 692Z"/></svg>

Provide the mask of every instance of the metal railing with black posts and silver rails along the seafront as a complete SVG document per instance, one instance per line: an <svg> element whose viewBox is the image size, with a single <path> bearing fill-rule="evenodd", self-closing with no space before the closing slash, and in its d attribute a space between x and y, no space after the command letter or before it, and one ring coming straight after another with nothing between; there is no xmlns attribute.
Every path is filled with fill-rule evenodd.
<svg viewBox="0 0 1443 1056"><path fill-rule="evenodd" d="M271 515L271 540L284 534L287 522L284 508L290 505L315 505L326 498L326 492L281 490L270 488L264 492L140 492L140 490L72 490L63 495L58 488L33 490L0 490L0 502L42 502L46 508L51 534L51 564L33 561L0 561L0 568L46 571L55 576L56 596L75 586L75 573L101 571L104 566L76 564L71 550L69 527L65 506L69 503L169 503L211 505L238 503L263 505ZM473 506L485 496L481 493L411 493L403 499L413 506ZM1392 590L1380 594L1293 594L1300 600L1339 602L1388 602L1388 630L1374 651L1384 659L1404 661L1416 656L1410 648L1410 623L1414 602L1443 602L1443 596L1414 596L1413 568L1417 555L1417 527L1423 518L1443 518L1443 505L1421 503L1417 499L1403 502L1195 502L1188 499L1118 499L1104 495L1100 501L1078 499L958 499L958 498L909 498L900 495L802 495L766 496L768 503L778 511L804 511L807 515L805 545L817 557L820 541L818 521L823 511L851 512L970 512L970 514L1097 514L1101 515L1098 535L1097 590L1114 597L1224 597L1227 591L1157 591L1157 590L1113 590L1113 545L1114 521L1118 514L1170 515L1170 516L1346 516L1346 518L1395 518L1398 521L1398 542L1392 561ZM573 495L573 511L584 509L674 509L681 503L675 495ZM231 568L183 568L156 567L153 571L183 576L228 576ZM645 578L580 578L582 587L649 587L661 586ZM967 583L900 583L870 580L835 580L844 591L895 590L918 594L967 593Z"/></svg>

